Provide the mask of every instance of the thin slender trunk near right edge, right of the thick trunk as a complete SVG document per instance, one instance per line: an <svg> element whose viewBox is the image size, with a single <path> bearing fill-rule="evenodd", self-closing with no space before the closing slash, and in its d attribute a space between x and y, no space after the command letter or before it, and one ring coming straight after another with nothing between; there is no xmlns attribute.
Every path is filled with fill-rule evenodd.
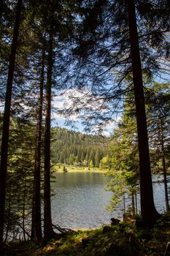
<svg viewBox="0 0 170 256"><path fill-rule="evenodd" d="M166 211L169 211L169 192L167 185L167 175L166 175L166 160L165 160L165 149L164 149L164 141L163 141L163 121L160 115L160 133L161 133L161 156L162 156L162 164L163 164L163 183L165 189L165 197L166 197Z"/></svg>

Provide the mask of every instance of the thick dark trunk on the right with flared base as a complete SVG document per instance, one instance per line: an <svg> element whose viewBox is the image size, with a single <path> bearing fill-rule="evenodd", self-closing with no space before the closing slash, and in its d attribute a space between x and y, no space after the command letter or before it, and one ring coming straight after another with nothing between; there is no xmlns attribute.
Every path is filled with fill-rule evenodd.
<svg viewBox="0 0 170 256"><path fill-rule="evenodd" d="M147 121L144 105L144 89L142 68L139 53L139 39L136 26L134 0L128 0L128 22L131 42L131 61L133 68L134 96L136 105L136 121L139 143L140 196L141 213L146 225L153 225L159 214L155 209L150 170L149 143L147 137Z"/></svg>

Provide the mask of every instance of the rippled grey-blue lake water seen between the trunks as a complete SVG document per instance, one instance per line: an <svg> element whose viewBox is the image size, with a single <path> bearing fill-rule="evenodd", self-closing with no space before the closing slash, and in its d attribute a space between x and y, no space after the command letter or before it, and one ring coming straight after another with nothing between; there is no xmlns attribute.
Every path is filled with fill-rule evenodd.
<svg viewBox="0 0 170 256"><path fill-rule="evenodd" d="M103 173L56 173L52 183L53 223L67 228L93 228L110 223L116 213L106 206L112 192L107 192L109 177ZM165 210L163 185L154 184L155 206Z"/></svg>

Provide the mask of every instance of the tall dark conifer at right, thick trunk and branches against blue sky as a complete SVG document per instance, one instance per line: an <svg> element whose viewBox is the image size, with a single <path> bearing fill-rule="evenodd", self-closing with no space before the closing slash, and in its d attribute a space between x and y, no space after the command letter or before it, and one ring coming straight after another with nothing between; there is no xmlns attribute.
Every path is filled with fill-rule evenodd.
<svg viewBox="0 0 170 256"><path fill-rule="evenodd" d="M158 67L158 54L166 51L167 37L163 38L161 35L169 28L169 16L165 4L163 7L160 4L161 18L157 26L158 12L155 5L147 2L144 4L144 12L142 4L144 3L136 2L135 5L131 0L98 0L93 1L90 6L83 6L86 13L83 13L80 36L74 48L74 54L79 56L79 67L76 67L80 70L74 78L74 85L77 85L81 94L80 97L71 95L74 106L69 108L68 113L80 113L83 124L88 129L96 125L100 132L102 125L112 121L114 114L123 108L125 94L134 91L142 217L146 225L153 225L159 214L155 210L152 195L142 72L152 79L156 70L161 70ZM163 12L166 18L163 18ZM165 20L168 21L167 26ZM158 50L160 42L162 48ZM152 49L155 54L152 54Z"/></svg>

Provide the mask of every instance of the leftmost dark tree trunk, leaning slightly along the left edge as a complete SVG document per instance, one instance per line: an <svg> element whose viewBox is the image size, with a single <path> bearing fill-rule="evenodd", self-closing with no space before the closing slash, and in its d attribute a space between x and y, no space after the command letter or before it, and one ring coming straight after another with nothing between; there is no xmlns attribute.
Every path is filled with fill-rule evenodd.
<svg viewBox="0 0 170 256"><path fill-rule="evenodd" d="M20 14L22 9L22 0L18 0L16 20L12 38L12 48L9 56L9 70L7 78L7 91L4 105L4 120L2 127L1 138L1 165L0 165L0 246L3 242L3 230L4 230L4 210L5 210L5 194L6 194L6 181L7 181L7 153L9 142L9 116L11 108L12 97L12 83L15 69L15 56L17 50L19 26L20 26Z"/></svg>

